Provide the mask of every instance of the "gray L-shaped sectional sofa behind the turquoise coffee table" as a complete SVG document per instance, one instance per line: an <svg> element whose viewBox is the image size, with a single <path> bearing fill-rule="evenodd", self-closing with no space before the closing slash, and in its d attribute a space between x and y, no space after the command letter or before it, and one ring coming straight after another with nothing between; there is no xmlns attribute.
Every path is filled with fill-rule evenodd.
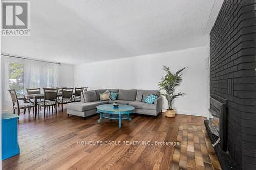
<svg viewBox="0 0 256 170"><path fill-rule="evenodd" d="M68 103L66 105L68 115L88 117L96 114L96 106L102 104L119 104L131 105L135 108L133 113L157 116L162 111L162 97L157 90L122 90L108 89L118 93L117 100L99 101L99 94L104 93L107 89L90 90L81 94L81 102ZM158 98L154 104L148 104L142 101L143 95L154 94Z"/></svg>

